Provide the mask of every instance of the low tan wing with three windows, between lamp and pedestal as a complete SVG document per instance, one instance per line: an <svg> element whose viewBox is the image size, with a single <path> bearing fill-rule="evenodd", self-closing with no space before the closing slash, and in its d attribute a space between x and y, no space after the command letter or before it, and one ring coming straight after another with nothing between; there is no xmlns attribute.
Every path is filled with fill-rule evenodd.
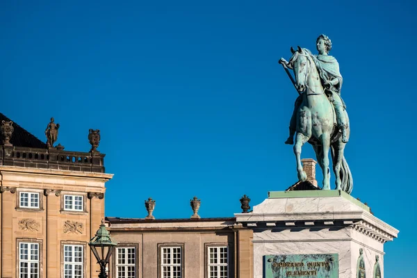
<svg viewBox="0 0 417 278"><path fill-rule="evenodd" d="M111 277L253 277L252 230L236 218L106 218Z"/></svg>

